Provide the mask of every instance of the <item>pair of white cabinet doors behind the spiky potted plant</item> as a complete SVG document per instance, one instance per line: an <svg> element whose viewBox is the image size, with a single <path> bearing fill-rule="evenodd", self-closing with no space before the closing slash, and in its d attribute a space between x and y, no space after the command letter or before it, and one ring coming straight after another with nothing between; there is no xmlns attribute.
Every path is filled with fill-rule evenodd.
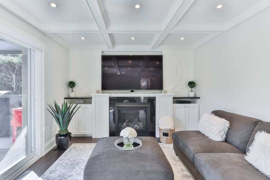
<svg viewBox="0 0 270 180"><path fill-rule="evenodd" d="M73 135L92 134L92 124L94 121L92 104L79 104L76 109L79 106L81 107L73 116L68 130Z"/></svg>

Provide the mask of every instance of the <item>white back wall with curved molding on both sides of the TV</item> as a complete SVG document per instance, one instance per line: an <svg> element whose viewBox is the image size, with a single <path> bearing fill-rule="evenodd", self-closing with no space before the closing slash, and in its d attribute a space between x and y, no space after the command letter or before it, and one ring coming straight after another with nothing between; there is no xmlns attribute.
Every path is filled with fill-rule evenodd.
<svg viewBox="0 0 270 180"><path fill-rule="evenodd" d="M76 96L89 96L101 90L101 50L70 50L69 78L76 82ZM164 90L188 96L187 82L193 80L192 51L164 50Z"/></svg>

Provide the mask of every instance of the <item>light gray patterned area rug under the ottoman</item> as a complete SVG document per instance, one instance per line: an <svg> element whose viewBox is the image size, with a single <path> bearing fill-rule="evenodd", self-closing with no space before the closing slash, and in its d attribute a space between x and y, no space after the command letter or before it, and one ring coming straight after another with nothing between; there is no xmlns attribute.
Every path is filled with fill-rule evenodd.
<svg viewBox="0 0 270 180"><path fill-rule="evenodd" d="M193 176L174 154L173 144L159 143L170 162L175 180L193 180ZM38 180L82 180L83 169L96 143L72 144ZM26 179L24 179L26 180ZM28 179L27 179L28 180ZM29 179L30 180L30 179ZM31 177L33 180L33 177Z"/></svg>

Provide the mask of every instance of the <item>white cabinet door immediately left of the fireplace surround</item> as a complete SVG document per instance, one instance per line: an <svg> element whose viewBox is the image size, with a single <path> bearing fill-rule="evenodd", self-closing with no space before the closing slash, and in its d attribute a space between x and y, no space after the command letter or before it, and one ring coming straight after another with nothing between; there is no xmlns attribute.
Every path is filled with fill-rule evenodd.
<svg viewBox="0 0 270 180"><path fill-rule="evenodd" d="M78 110L79 134L92 134L92 105L83 104Z"/></svg>

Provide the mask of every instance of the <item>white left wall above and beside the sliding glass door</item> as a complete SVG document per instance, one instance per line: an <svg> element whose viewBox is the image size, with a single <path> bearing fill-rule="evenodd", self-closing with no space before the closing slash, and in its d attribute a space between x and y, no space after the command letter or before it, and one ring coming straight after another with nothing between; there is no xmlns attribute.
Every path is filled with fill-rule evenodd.
<svg viewBox="0 0 270 180"><path fill-rule="evenodd" d="M0 6L0 19L19 28L28 35L47 45L45 50L45 103L52 104L53 99L58 103L68 95L69 51L53 41L38 29L22 21ZM47 107L47 106L46 106ZM45 111L45 152L55 145L57 124L52 116Z"/></svg>

